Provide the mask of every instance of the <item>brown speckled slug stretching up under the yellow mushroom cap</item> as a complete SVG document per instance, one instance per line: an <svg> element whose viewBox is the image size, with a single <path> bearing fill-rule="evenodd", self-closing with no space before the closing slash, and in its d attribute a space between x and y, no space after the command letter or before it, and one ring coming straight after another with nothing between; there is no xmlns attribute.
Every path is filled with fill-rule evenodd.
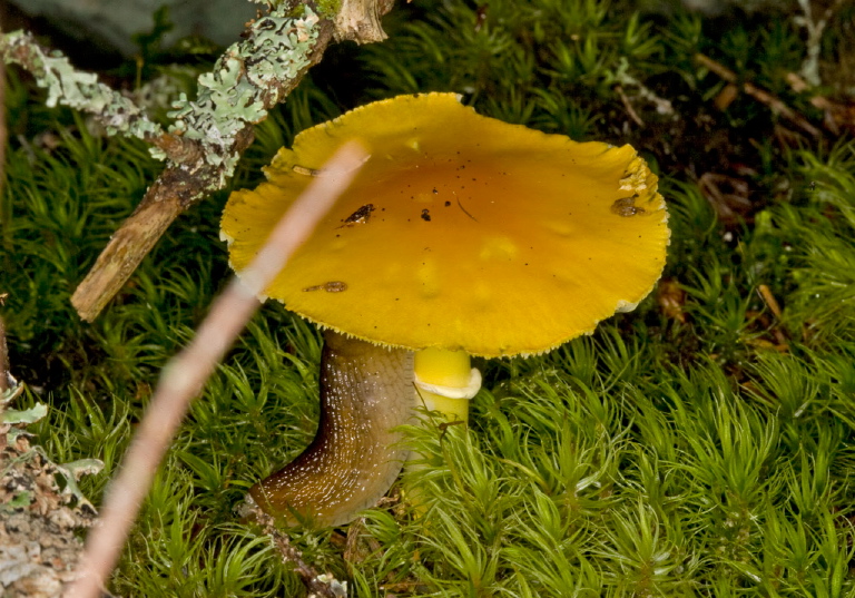
<svg viewBox="0 0 855 598"><path fill-rule="evenodd" d="M341 526L376 504L407 451L393 429L416 404L413 354L324 333L321 421L308 448L249 493L288 523Z"/></svg>

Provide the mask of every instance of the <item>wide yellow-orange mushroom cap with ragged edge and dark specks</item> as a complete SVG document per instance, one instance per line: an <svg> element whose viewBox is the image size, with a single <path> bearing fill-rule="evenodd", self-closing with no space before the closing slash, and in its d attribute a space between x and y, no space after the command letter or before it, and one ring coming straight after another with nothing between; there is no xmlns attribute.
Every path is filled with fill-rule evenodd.
<svg viewBox="0 0 855 598"><path fill-rule="evenodd" d="M668 213L632 147L509 125L454 94L377 101L297 135L266 183L228 200L236 272L353 138L370 158L266 291L322 326L411 350L533 354L632 310L661 275Z"/></svg>

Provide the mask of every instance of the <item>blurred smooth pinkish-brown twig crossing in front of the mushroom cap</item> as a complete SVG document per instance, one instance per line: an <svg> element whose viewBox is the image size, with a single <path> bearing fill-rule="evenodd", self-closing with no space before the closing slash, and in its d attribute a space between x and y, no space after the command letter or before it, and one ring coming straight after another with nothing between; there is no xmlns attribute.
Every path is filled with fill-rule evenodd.
<svg viewBox="0 0 855 598"><path fill-rule="evenodd" d="M139 506L175 430L217 362L258 308L262 295L365 160L355 143L340 149L271 233L253 263L217 297L190 344L164 367L151 403L107 490L99 525L87 538L79 577L67 598L94 598L118 560Z"/></svg>

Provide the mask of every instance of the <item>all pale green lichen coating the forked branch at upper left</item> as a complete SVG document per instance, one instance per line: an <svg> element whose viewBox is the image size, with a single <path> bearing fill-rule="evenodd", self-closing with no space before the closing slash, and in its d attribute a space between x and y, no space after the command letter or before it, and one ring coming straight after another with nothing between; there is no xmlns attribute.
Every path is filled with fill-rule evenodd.
<svg viewBox="0 0 855 598"><path fill-rule="evenodd" d="M194 164L179 166L197 171L204 166L217 168L208 189L220 188L232 176L240 155L235 149L237 135L247 124L267 116L267 107L282 100L291 84L309 65L309 53L320 33L320 18L311 8L288 17L293 10L283 3L256 20L245 41L232 45L212 72L198 78L196 100L180 95L169 116L175 118L169 133L200 146ZM57 52L41 49L31 35L0 35L0 56L30 70L40 87L48 89L48 106L61 102L91 112L110 135L124 134L151 140L164 134L129 98L99 84L92 73L79 72ZM167 158L160 147L149 150L158 159Z"/></svg>

